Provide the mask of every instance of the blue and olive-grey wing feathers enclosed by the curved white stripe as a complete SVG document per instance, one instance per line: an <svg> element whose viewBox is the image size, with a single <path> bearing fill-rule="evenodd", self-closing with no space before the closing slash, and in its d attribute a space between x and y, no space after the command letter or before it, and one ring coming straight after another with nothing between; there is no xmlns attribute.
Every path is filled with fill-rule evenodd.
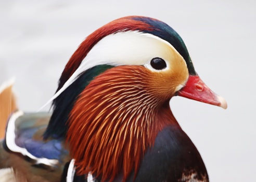
<svg viewBox="0 0 256 182"><path fill-rule="evenodd" d="M43 139L49 118L50 114L48 113L28 113L19 116L15 120L14 145L26 149L36 158L55 159L61 162L63 158L69 156L64 139L62 137Z"/></svg>

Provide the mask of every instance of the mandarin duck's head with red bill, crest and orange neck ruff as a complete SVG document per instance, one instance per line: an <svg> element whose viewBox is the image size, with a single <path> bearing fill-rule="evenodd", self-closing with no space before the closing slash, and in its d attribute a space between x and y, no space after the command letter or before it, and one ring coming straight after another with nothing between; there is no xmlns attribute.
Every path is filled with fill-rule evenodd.
<svg viewBox="0 0 256 182"><path fill-rule="evenodd" d="M226 108L197 75L182 38L147 17L114 20L89 35L66 65L44 137L67 137L80 174L124 179L138 170L180 95Z"/></svg>

